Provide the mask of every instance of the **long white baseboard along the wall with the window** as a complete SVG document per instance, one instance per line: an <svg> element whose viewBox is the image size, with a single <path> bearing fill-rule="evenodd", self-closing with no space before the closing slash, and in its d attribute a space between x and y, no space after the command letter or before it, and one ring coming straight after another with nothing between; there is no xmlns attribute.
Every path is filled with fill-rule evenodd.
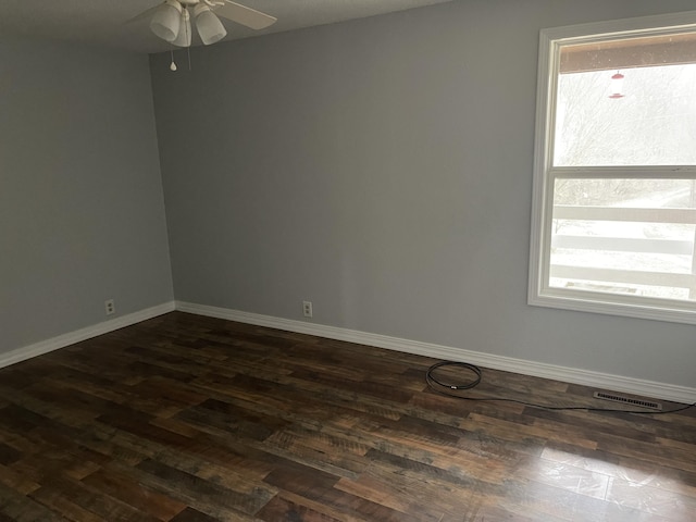
<svg viewBox="0 0 696 522"><path fill-rule="evenodd" d="M434 345L431 343L420 343L415 340L401 339L378 334L369 334L336 326L326 326L302 321L260 315L257 313L241 312L225 308L208 307L191 302L176 301L176 310L182 312L208 315L211 318L226 319L240 323L268 326L271 328L297 332L300 334L315 335L330 339L346 340L360 345L375 346L389 350L414 353L418 356L432 357L448 361L469 362L483 368L502 370L506 372L532 375L535 377L550 378L566 383L582 384L605 390L622 391L655 399L670 400L691 405L696 402L696 388L676 386L654 381L624 377L608 373L579 370L575 368L558 366L533 362L524 359L495 356L480 351L464 350L448 346Z"/></svg>

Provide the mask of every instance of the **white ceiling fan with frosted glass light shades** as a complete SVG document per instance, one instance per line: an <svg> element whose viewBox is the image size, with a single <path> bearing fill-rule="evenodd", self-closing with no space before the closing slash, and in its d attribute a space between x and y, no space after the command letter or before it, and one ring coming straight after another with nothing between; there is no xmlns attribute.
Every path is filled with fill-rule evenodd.
<svg viewBox="0 0 696 522"><path fill-rule="evenodd" d="M232 0L164 0L133 20L150 16L150 29L177 47L191 45L191 18L203 45L222 40L227 30L217 16L252 29L263 29L277 18Z"/></svg>

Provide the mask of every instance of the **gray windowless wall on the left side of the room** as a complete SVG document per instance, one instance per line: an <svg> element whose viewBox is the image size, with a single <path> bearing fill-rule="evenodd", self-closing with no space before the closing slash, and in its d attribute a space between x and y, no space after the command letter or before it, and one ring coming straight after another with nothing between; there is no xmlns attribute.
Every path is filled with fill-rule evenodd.
<svg viewBox="0 0 696 522"><path fill-rule="evenodd" d="M0 352L172 300L147 57L0 39Z"/></svg>

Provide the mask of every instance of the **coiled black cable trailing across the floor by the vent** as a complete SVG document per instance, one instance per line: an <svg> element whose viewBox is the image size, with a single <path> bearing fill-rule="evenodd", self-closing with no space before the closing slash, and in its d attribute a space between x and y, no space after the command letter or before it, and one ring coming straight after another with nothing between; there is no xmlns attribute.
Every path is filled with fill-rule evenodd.
<svg viewBox="0 0 696 522"><path fill-rule="evenodd" d="M447 384L442 380L433 376L433 372L438 368L464 368L471 371L474 374L474 378L469 383L463 384ZM463 400L477 400L477 401L498 401L498 402L515 402L518 405L529 406L531 408L539 408L543 410L552 410L552 411L566 411L566 410L585 410L585 411L605 411L609 413L635 413L638 415L663 415L667 413L676 413L678 411L688 410L696 406L696 402L693 405L686 405L681 408L675 408L673 410L661 410L661 411L642 411L642 410L620 410L612 408L592 408L587 406L546 406L546 405L537 405L534 402L526 402L524 400L510 399L506 397L463 397L461 395L456 395L450 393L450 390L457 391L460 389L471 389L477 386L481 383L483 377L483 372L481 369L474 364L470 364L468 362L456 362L456 361L440 361L433 364L425 372L425 382L434 391L445 395L447 397L455 397L456 399Z"/></svg>

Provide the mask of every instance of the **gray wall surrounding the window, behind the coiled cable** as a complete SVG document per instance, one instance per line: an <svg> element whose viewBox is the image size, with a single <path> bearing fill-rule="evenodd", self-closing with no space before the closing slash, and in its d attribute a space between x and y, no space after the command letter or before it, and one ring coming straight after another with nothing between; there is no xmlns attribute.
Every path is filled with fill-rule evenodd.
<svg viewBox="0 0 696 522"><path fill-rule="evenodd" d="M151 57L179 300L696 386L696 327L526 304L538 33L469 0Z"/></svg>

